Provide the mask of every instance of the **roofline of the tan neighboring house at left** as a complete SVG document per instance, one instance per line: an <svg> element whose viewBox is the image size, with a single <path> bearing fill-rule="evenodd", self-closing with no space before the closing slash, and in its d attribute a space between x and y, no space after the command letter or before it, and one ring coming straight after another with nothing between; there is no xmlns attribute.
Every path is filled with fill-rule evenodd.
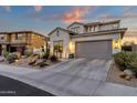
<svg viewBox="0 0 137 103"><path fill-rule="evenodd" d="M43 35L41 33L38 33L38 32L34 32L34 31L12 31L12 32L0 32L0 34L11 34L11 33L34 33L34 34L38 34L38 35L41 35L41 37L45 37L48 38L46 35Z"/></svg>

